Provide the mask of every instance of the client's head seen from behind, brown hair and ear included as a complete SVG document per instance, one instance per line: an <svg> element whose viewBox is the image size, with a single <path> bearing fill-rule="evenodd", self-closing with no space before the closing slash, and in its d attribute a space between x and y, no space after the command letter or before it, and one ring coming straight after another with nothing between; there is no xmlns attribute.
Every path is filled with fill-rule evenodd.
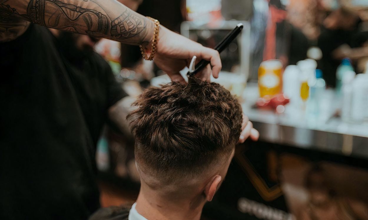
<svg viewBox="0 0 368 220"><path fill-rule="evenodd" d="M211 200L238 141L242 111L217 83L190 78L149 88L135 105L131 129L142 187L159 195Z"/></svg>

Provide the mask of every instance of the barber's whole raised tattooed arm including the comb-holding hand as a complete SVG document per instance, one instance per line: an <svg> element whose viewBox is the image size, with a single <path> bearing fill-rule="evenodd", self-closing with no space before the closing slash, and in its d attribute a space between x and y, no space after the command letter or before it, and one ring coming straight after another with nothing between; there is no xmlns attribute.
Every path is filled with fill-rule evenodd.
<svg viewBox="0 0 368 220"><path fill-rule="evenodd" d="M23 19L23 20L22 20ZM0 0L0 41L27 30L29 22L94 37L109 38L149 50L155 24L116 0ZM210 61L212 75L221 69L219 52L160 26L155 63L171 80L186 83L179 71L193 56ZM210 80L211 71L198 74Z"/></svg>

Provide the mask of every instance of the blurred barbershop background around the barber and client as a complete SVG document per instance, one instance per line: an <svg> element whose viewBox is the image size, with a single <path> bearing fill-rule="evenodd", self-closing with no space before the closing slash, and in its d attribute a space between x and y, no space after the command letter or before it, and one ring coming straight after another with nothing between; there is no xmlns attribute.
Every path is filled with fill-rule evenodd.
<svg viewBox="0 0 368 220"><path fill-rule="evenodd" d="M367 0L121 0L207 47L238 23L212 79L260 132L237 148L203 219L368 219ZM101 40L129 95L169 82L139 48ZM185 77L187 70L183 70ZM134 202L134 139L106 127L96 156L102 206Z"/></svg>

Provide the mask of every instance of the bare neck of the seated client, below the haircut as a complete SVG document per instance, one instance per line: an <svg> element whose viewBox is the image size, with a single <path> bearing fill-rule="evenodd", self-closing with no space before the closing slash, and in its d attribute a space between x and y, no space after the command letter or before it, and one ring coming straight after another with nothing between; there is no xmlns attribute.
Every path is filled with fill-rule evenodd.
<svg viewBox="0 0 368 220"><path fill-rule="evenodd" d="M169 201L150 190L148 186L142 185L135 208L148 220L199 220L204 204L205 201L201 195L192 199L171 199Z"/></svg>

